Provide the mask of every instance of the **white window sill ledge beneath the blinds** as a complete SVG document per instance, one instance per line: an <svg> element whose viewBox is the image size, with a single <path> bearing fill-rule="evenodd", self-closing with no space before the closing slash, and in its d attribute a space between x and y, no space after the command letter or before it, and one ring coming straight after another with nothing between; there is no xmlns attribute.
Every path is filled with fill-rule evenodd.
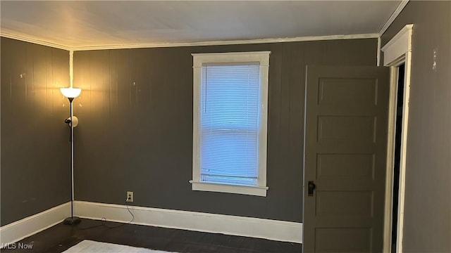
<svg viewBox="0 0 451 253"><path fill-rule="evenodd" d="M203 190L218 193L237 193L244 195L255 195L266 197L266 186L238 186L222 183L206 183L201 181L190 180L192 190Z"/></svg>

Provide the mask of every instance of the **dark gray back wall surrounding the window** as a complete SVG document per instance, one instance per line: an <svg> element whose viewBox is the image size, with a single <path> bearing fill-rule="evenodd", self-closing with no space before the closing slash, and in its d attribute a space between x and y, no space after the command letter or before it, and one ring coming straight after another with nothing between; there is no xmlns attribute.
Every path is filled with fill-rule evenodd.
<svg viewBox="0 0 451 253"><path fill-rule="evenodd" d="M75 199L302 221L304 69L376 65L376 39L77 51ZM191 53L271 51L268 196L192 191Z"/></svg>

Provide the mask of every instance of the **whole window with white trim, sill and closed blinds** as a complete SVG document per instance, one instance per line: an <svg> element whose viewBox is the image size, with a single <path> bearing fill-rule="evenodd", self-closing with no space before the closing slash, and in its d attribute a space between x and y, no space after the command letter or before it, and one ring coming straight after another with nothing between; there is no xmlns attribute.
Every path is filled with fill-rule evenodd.
<svg viewBox="0 0 451 253"><path fill-rule="evenodd" d="M269 53L192 54L192 190L266 196Z"/></svg>

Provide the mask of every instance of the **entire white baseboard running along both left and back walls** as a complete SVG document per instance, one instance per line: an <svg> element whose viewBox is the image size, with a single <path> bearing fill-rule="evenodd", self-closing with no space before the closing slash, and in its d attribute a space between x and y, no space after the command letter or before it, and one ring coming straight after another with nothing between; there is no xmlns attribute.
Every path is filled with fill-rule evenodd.
<svg viewBox="0 0 451 253"><path fill-rule="evenodd" d="M131 206L130 211L135 215L132 222L134 224L302 243L302 223L297 222L151 207ZM60 223L69 214L70 202L67 202L2 226L0 227L1 245L18 242L39 233ZM105 217L108 221L123 223L130 221L131 218L125 205L85 201L75 201L75 214L87 219Z"/></svg>

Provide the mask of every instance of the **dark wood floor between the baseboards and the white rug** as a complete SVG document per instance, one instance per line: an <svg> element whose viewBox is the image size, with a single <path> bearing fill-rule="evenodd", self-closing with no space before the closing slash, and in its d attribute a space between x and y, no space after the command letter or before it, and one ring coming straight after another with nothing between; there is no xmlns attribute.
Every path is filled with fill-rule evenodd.
<svg viewBox="0 0 451 253"><path fill-rule="evenodd" d="M100 226L99 226L100 225ZM121 223L106 222L108 226ZM82 240L111 242L133 247L182 253L299 253L301 245L235 235L184 231L173 228L126 224L118 228L101 226L101 221L82 219L76 226L57 224L21 240L32 244L23 252L59 253ZM21 252L20 249L1 249L1 252Z"/></svg>

